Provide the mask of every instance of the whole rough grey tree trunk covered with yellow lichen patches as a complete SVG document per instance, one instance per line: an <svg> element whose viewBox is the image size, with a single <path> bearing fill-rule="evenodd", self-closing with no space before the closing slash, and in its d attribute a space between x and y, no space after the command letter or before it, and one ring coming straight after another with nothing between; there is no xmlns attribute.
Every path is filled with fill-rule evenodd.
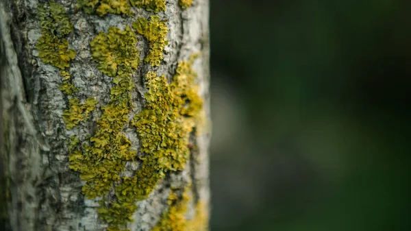
<svg viewBox="0 0 411 231"><path fill-rule="evenodd" d="M208 230L208 38L208 0L0 1L0 230Z"/></svg>

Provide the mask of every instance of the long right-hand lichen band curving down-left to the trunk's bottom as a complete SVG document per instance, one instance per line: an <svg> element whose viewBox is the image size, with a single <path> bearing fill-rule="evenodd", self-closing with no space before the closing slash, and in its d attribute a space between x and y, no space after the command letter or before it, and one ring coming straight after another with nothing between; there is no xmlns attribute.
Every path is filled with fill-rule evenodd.
<svg viewBox="0 0 411 231"><path fill-rule="evenodd" d="M142 142L140 150L145 152L146 156L140 158L142 166L136 171L134 177L123 178L123 183L115 187L116 201L106 204L99 210L103 219L112 220L111 225L114 228L123 227L127 222L132 221L131 216L136 209L134 203L147 198L158 180L164 177L164 171L169 168L181 170L188 155L188 147L184 145L183 138L179 137L183 136L182 126L177 125L175 119L172 119L170 123L166 122L167 119L173 117L173 114L170 114L173 110L173 99L169 84L166 83L164 77L159 78L153 72L147 74L146 80L151 82L148 84L149 92L146 94L147 105L132 123L138 128L145 127L145 130L138 132L140 138L146 137L143 140L140 139ZM155 114L153 110L158 111L158 118L153 118L153 113ZM161 110L164 110L164 114ZM174 111L177 112L177 110ZM152 123L147 121L146 117L152 119ZM158 139L158 136L152 135L161 130L166 130L164 134L158 134L160 138L164 138L164 143ZM155 147L149 143L151 136L153 136ZM175 145L175 149L171 145ZM157 152L153 154L153 151Z"/></svg>

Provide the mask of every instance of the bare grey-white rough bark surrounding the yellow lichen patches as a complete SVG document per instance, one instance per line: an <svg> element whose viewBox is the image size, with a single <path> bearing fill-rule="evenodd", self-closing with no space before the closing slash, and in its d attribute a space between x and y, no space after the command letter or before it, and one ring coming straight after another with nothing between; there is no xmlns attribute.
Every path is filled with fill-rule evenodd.
<svg viewBox="0 0 411 231"><path fill-rule="evenodd" d="M133 4L129 9L131 13L113 14L116 10L110 8L104 16L99 16L92 9L87 11L79 8L75 0L56 1L62 5L73 24L73 32L64 33L64 38L59 39L68 41L69 47L65 49L75 51L75 58L72 60L70 54L67 64L54 66L52 61L45 62L45 56L39 55L38 49L39 38L44 34L38 7L47 5L48 1L0 2L0 160L3 162L0 166L0 196L7 199L6 204L1 204L0 228L97 231L110 226L97 212L101 208L101 197L86 199L82 192L85 182L80 180L79 173L69 168L71 137L75 136L83 143L90 142L90 137L99 131L97 121L104 113L101 107L107 106L112 100L110 89L114 87L113 77L98 67L96 59L92 57L94 51L90 42L100 32L108 34L109 27L118 27L123 32L138 19L149 20L150 16L155 15L166 23L169 30L164 51L161 46L158 50L162 51L164 59L160 63L156 61L158 65L144 62L150 51L153 51L155 40L150 40L151 37L147 37L147 33L142 32L143 27L138 25L141 33L136 32L136 49L140 62L132 69L134 87L129 91L132 103L127 118L132 122L146 106L147 74L156 73L158 77L164 75L171 83L177 65L188 61L193 54L200 53L192 62L192 69L197 73L199 88L196 89L203 101L201 110L206 114L206 119L190 133L187 144L190 157L185 167L165 171L164 178L158 180L148 197L136 202L137 209L132 215L134 221L128 222L127 228L170 230L171 227L160 226L168 223L167 217L171 211L179 210L180 214L175 216L184 218L182 226L178 226L179 230L206 230L210 140L208 0L194 0L192 5L185 5L184 8L179 0L164 2L165 11L155 12L147 10L145 5L138 8ZM164 38L161 39L164 41ZM64 82L68 78L64 79L62 75L66 74L61 74L56 66L70 75L69 82ZM73 87L68 84L73 84ZM93 103L95 108L87 109L88 118L68 129L63 114L69 108L69 99L73 97L79 99L79 105L85 105L86 99L95 99L97 104ZM139 158L145 155L140 152L142 142L132 123L127 123L121 134L131 141L131 150L138 153L133 160L125 161L125 169L121 172L121 177L132 177L142 167ZM110 199L113 195L113 191L108 193ZM173 195L176 196L171 199ZM174 207L177 202L179 209ZM174 227L175 224L169 226Z"/></svg>

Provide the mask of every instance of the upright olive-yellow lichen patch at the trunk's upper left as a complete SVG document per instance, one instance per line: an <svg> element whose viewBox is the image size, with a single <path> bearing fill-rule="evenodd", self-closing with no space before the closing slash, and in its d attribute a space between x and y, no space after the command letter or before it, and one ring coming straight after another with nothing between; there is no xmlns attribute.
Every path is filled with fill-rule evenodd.
<svg viewBox="0 0 411 231"><path fill-rule="evenodd" d="M45 63L60 69L69 67L75 58L75 51L69 49L69 42L64 38L73 32L73 24L61 5L51 1L49 8L38 8L42 36L38 38L36 48L38 56Z"/></svg>

